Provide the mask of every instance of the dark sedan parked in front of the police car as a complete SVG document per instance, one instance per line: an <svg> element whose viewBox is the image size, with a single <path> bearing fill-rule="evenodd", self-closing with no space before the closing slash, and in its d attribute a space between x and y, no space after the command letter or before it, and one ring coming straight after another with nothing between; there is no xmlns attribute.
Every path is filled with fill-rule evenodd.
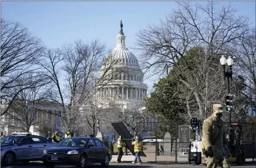
<svg viewBox="0 0 256 168"><path fill-rule="evenodd" d="M42 161L46 167L55 164L86 167L87 163L107 167L112 159L110 148L98 138L70 137L61 140L54 147L44 150Z"/></svg>

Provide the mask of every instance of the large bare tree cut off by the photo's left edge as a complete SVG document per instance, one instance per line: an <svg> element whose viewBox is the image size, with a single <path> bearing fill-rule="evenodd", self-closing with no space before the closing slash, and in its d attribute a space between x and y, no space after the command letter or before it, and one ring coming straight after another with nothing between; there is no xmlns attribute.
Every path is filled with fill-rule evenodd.
<svg viewBox="0 0 256 168"><path fill-rule="evenodd" d="M22 90L35 84L24 81L19 85L16 81L28 73L39 70L33 65L35 60L40 59L42 49L41 40L32 36L27 28L20 23L1 18L1 101L8 104L1 111L1 116L7 113L13 100Z"/></svg>

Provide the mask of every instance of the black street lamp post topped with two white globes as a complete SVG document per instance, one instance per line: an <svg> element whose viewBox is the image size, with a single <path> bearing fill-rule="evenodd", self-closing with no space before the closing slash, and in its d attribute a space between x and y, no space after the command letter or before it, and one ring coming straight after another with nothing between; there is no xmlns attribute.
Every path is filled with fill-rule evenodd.
<svg viewBox="0 0 256 168"><path fill-rule="evenodd" d="M229 79L232 79L232 66L234 65L233 58L231 56L226 59L224 55L221 56L220 64L223 67L223 73L224 73L224 80L227 78L227 94L230 94L230 83ZM226 65L228 66L226 70ZM231 110L229 111L229 122L231 122Z"/></svg>

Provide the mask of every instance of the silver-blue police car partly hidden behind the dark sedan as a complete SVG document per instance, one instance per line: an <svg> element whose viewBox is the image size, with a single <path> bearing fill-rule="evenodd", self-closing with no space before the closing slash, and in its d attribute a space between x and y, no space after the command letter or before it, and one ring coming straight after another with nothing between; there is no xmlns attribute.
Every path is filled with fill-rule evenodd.
<svg viewBox="0 0 256 168"><path fill-rule="evenodd" d="M55 145L56 143L41 136L31 135L30 132L15 132L1 138L1 162L9 166L18 161L23 164L40 161L43 151Z"/></svg>

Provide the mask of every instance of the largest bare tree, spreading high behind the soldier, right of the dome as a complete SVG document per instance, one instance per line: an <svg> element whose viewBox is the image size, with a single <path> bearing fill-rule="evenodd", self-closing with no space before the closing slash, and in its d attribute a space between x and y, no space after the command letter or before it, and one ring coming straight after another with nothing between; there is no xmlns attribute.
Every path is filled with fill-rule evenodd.
<svg viewBox="0 0 256 168"><path fill-rule="evenodd" d="M216 72L220 71L220 65L217 60L220 54L232 53L229 46L248 31L248 20L243 16L236 16L233 7L218 8L215 2L208 2L206 6L198 3L192 5L189 2L177 3L180 8L175 9L165 21L160 21L159 26L149 26L139 31L136 49L142 52L141 58L146 70L153 68L157 73L169 75L170 70L175 67L177 80L191 91L198 106L199 117L205 118L208 116L207 111L210 111L210 104L222 100L222 90L217 91L214 98L209 94L224 85L216 85L212 80L218 79ZM187 61L191 57L186 56L196 46L202 46L206 54L198 60L205 66L197 66L200 70L194 74L195 69L191 69L191 62ZM206 66L210 64L211 66ZM215 73L211 74L214 69ZM187 78L182 73L184 70L191 71L193 76ZM200 75L204 76L201 82L198 81ZM210 83L214 84L214 90L209 89ZM204 93L201 93L202 89Z"/></svg>

